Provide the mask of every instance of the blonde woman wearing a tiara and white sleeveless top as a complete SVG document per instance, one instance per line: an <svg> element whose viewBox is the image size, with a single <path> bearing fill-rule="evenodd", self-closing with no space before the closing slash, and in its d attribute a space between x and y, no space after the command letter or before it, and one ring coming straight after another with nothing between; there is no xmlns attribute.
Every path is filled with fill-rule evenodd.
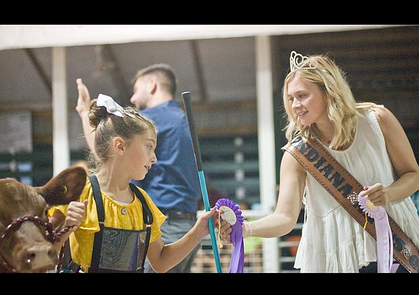
<svg viewBox="0 0 419 295"><path fill-rule="evenodd" d="M290 65L283 88L288 141L297 135L317 139L363 185L361 195L385 207L419 246L419 217L409 198L419 189L419 167L396 117L384 106L356 103L343 71L327 56L293 51ZM282 157L275 212L244 224L243 236L286 235L302 203L305 220L295 268L365 272L376 265L374 237L288 152ZM225 221L222 225L220 235L230 241L231 227Z"/></svg>

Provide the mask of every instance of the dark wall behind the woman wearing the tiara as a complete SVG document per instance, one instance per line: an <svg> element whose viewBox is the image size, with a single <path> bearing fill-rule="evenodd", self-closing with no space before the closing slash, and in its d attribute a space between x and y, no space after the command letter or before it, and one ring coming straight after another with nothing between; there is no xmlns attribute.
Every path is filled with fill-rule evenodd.
<svg viewBox="0 0 419 295"><path fill-rule="evenodd" d="M304 56L329 54L346 72L359 102L384 104L399 119L419 161L419 26L273 37L276 142L285 144L280 126L282 83L291 51ZM277 149L277 163L282 152ZM279 166L278 166L279 167Z"/></svg>

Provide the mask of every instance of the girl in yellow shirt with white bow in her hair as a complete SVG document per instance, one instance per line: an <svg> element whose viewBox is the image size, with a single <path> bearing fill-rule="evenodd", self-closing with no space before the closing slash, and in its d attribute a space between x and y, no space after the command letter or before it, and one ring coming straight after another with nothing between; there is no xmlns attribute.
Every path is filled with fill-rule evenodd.
<svg viewBox="0 0 419 295"><path fill-rule="evenodd" d="M147 257L155 272L166 272L208 235L209 218L214 216L214 226L218 224L216 210L203 213L179 241L163 244L160 226L165 215L146 191L130 183L131 178L143 179L157 162L155 123L106 95L92 100L89 122L95 130L91 159L96 173L87 178L78 209L69 212L78 220L83 216L80 208L86 211L69 237L71 265L82 272L143 272ZM53 225L65 222L67 207L54 208Z"/></svg>

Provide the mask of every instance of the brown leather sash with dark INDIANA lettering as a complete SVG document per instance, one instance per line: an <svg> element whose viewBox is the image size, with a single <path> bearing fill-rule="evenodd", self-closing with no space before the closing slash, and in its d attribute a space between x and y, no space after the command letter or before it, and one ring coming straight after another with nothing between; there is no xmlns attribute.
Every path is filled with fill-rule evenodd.
<svg viewBox="0 0 419 295"><path fill-rule="evenodd" d="M358 204L363 186L316 140L304 142L295 137L286 150L341 204L365 230L376 239L374 218L367 216ZM365 218L367 223L365 224ZM419 272L419 250L400 226L388 216L393 238L393 256L409 272Z"/></svg>

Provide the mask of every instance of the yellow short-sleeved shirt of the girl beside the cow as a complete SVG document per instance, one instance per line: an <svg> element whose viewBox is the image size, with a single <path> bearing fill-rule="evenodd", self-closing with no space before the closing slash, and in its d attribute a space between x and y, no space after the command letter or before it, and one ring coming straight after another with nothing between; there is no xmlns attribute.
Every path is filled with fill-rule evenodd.
<svg viewBox="0 0 419 295"><path fill-rule="evenodd" d="M138 187L138 189L143 194L148 204L148 208L152 213L153 222L150 235L150 243L152 243L161 237L160 226L163 224L164 220L166 220L166 216L159 211L144 189L141 189L140 187ZM96 212L96 204L93 197L93 189L91 189L89 178L87 178L86 185L84 185L84 189L79 198L80 202L83 202L84 200L89 200L86 215L76 231L71 233L69 239L71 258L75 263L81 266L83 272L89 272L94 235L100 229L98 213ZM109 198L109 196L106 196L102 191L102 200L105 212L104 226L133 231L139 231L145 228L141 202L138 198L135 198L131 204L122 205L115 202L112 198ZM66 215L67 207L68 205L56 206L54 207L54 210L59 210ZM126 210L126 214L122 214L122 209L124 209L124 211Z"/></svg>

